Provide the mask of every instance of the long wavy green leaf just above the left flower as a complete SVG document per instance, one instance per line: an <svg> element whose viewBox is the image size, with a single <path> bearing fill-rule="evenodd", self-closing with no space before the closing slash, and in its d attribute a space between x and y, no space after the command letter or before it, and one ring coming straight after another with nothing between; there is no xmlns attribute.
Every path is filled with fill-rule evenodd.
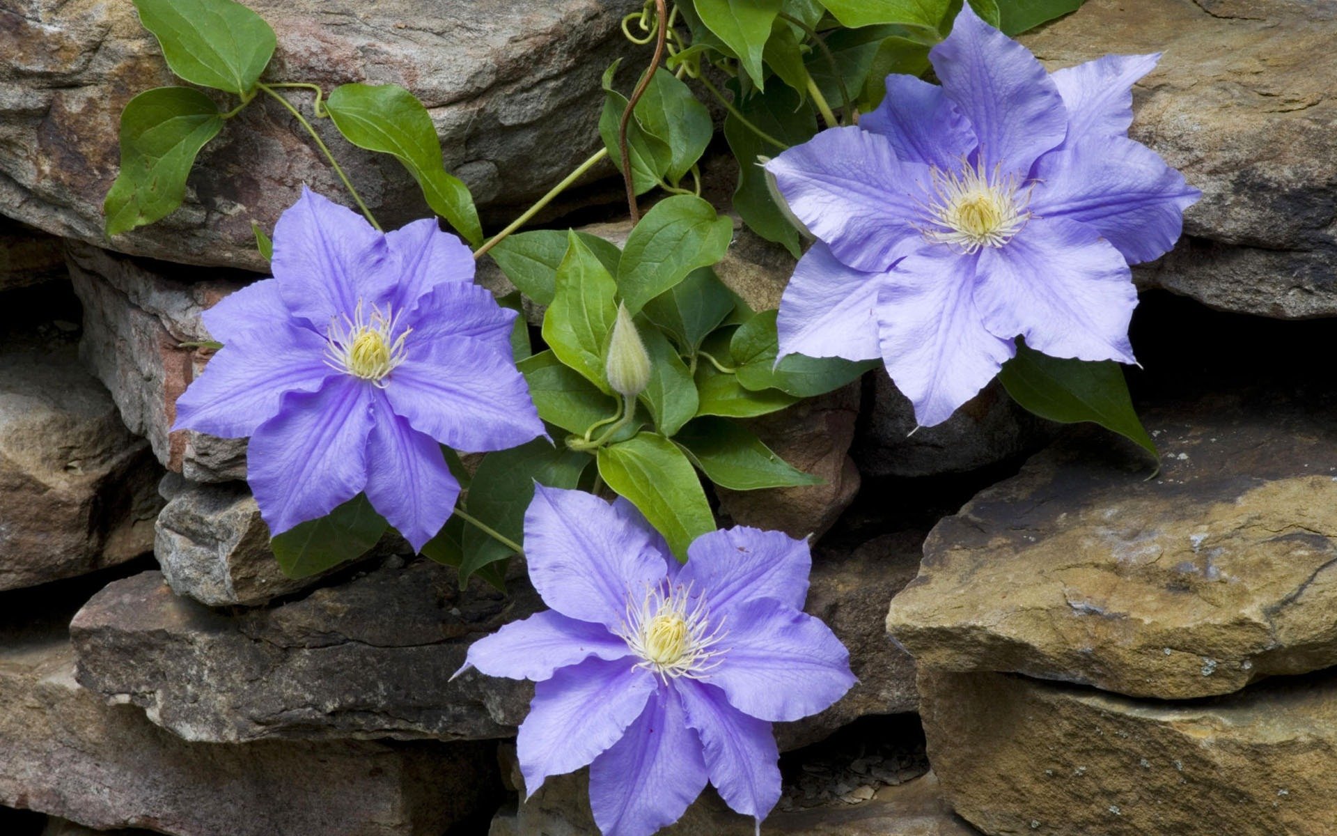
<svg viewBox="0 0 1337 836"><path fill-rule="evenodd" d="M473 246L483 243L473 195L445 170L436 126L417 96L398 84L341 84L325 100L325 110L345 139L404 163L432 211Z"/></svg>

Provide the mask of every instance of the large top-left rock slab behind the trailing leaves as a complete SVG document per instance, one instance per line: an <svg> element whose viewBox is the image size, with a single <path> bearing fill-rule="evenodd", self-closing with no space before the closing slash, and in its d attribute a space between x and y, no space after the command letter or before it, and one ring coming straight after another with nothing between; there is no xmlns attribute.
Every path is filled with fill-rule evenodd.
<svg viewBox="0 0 1337 836"><path fill-rule="evenodd" d="M598 148L599 76L619 55L642 51L618 28L638 0L247 5L278 35L269 80L409 88L432 114L447 169L480 203L525 203ZM16 0L0 15L0 214L100 242L120 110L143 90L180 82L128 3ZM306 94L291 100L310 114ZM427 214L398 162L360 151L318 122L386 229ZM186 205L112 245L259 270L250 223L271 229L302 183L346 199L310 139L261 95L203 151Z"/></svg>

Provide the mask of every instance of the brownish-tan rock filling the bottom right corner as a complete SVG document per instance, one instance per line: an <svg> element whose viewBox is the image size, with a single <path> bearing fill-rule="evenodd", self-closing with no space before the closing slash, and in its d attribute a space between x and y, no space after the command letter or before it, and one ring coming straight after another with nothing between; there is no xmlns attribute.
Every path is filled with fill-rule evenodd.
<svg viewBox="0 0 1337 836"><path fill-rule="evenodd" d="M928 754L989 836L1328 836L1337 677L1191 704L996 673L920 673Z"/></svg>

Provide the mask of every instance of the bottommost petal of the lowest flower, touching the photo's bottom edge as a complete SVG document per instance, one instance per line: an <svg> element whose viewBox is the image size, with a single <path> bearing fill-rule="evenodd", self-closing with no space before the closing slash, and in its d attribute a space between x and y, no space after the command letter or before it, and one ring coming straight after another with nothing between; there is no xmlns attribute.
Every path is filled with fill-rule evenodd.
<svg viewBox="0 0 1337 836"><path fill-rule="evenodd" d="M590 765L590 808L604 836L651 836L706 788L701 740L682 700L659 689L626 736Z"/></svg>

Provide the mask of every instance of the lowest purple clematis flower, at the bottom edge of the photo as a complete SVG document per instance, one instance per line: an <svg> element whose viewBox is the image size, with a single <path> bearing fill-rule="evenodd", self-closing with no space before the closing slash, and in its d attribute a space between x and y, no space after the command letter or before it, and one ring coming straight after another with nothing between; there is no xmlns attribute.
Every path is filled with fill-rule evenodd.
<svg viewBox="0 0 1337 836"><path fill-rule="evenodd" d="M552 609L475 642L464 669L537 682L517 740L525 789L590 764L606 836L673 824L707 780L761 821L779 800L770 724L854 684L844 645L800 610L808 543L713 531L679 567L628 502L536 486L524 551Z"/></svg>

